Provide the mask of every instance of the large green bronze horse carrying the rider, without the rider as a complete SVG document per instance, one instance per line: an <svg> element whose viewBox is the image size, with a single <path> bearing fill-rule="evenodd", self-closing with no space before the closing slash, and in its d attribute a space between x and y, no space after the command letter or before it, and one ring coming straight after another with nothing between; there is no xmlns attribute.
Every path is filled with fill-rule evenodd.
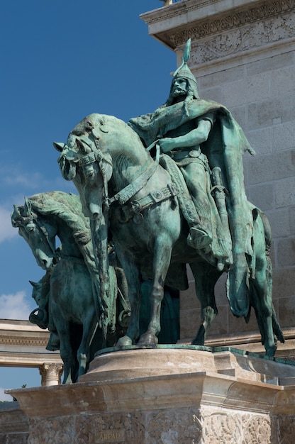
<svg viewBox="0 0 295 444"><path fill-rule="evenodd" d="M243 269L238 268L234 257L233 266L223 270L216 258L187 244L189 226L179 203L180 188L185 184L177 187L160 165L161 159L167 162L168 156L157 153L154 160L126 123L114 116L91 114L74 127L66 144L54 146L60 151L58 162L63 177L74 182L84 215L91 218L96 248L106 249L111 233L126 274L131 316L118 348L136 341L141 347L157 345L164 284L185 289L189 264L201 303L201 325L192 344L204 345L208 328L218 313L214 286L226 271L230 277L230 308L240 316L232 302L243 291L247 310L242 316L248 321L254 308L266 355L274 356L277 339L284 342L284 335L272 304L270 227L259 209L245 202L251 233L247 242L252 254L235 252L235 257L243 256ZM108 265L101 260L99 267L103 276ZM144 277L152 281L151 311L147 330L139 338L140 282ZM104 297L106 292L101 289L101 298Z"/></svg>

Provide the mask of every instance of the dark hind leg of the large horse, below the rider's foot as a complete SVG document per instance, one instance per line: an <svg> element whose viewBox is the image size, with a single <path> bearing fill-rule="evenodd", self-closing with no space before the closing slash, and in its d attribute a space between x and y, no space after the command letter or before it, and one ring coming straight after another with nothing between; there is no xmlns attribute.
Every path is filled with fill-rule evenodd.
<svg viewBox="0 0 295 444"><path fill-rule="evenodd" d="M221 272L218 272L215 267L207 262L194 262L190 264L190 267L194 275L196 296L201 304L201 325L191 343L204 345L211 323L213 323L218 313L214 287L221 276Z"/></svg>

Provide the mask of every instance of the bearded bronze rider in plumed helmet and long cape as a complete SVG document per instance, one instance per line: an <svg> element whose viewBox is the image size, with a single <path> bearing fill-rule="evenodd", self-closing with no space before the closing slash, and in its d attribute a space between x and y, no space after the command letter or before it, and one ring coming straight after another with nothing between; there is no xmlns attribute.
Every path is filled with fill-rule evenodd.
<svg viewBox="0 0 295 444"><path fill-rule="evenodd" d="M247 274L245 256L252 256L254 206L245 196L242 156L255 152L226 107L199 98L196 78L187 65L189 55L190 40L166 103L154 113L131 118L128 125L147 149L157 146L164 154L160 162L182 190L179 199L190 228L187 243L208 262L217 261L218 270L230 270L228 284L237 287L232 289L231 308L236 316L245 316L247 296L239 282ZM167 156L176 162L182 178Z"/></svg>

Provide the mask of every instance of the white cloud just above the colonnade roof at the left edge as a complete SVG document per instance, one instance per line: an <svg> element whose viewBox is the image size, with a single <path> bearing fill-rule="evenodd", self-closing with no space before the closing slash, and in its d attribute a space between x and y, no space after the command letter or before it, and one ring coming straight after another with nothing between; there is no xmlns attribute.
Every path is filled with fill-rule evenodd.
<svg viewBox="0 0 295 444"><path fill-rule="evenodd" d="M1 294L0 296L0 318L21 319L28 321L30 307L25 300L26 292L16 294Z"/></svg>

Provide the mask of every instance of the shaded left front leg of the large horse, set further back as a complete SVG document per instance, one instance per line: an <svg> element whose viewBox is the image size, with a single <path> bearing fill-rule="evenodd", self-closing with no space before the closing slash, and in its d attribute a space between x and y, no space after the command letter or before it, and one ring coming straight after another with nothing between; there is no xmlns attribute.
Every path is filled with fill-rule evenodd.
<svg viewBox="0 0 295 444"><path fill-rule="evenodd" d="M135 344L139 336L139 318L140 318L140 267L135 261L133 255L124 252L123 255L118 251L118 258L123 267L128 285L128 299L130 303L130 321L126 335L118 340L116 348L124 348Z"/></svg>

